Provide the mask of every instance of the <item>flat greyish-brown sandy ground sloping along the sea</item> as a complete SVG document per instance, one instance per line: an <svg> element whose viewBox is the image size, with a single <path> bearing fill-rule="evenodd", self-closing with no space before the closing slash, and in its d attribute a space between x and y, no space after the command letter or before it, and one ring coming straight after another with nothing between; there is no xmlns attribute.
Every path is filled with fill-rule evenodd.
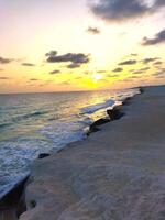
<svg viewBox="0 0 165 220"><path fill-rule="evenodd" d="M165 220L165 86L122 119L37 160L21 220Z"/></svg>

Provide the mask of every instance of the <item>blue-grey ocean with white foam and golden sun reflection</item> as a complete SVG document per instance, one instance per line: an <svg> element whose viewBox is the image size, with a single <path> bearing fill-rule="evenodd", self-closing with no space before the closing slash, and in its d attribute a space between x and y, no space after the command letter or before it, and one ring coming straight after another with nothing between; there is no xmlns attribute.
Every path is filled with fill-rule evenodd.
<svg viewBox="0 0 165 220"><path fill-rule="evenodd" d="M86 139L87 128L139 89L0 95L0 197L40 153Z"/></svg>

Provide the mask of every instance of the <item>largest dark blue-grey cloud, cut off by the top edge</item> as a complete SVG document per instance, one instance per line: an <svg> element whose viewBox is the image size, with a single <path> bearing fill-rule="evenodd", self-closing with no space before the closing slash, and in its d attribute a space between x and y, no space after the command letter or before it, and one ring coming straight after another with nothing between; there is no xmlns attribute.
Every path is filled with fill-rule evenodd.
<svg viewBox="0 0 165 220"><path fill-rule="evenodd" d="M98 0L92 2L89 4L92 13L109 22L142 18L158 12L165 6L164 0L155 0L152 6L148 6L145 0Z"/></svg>

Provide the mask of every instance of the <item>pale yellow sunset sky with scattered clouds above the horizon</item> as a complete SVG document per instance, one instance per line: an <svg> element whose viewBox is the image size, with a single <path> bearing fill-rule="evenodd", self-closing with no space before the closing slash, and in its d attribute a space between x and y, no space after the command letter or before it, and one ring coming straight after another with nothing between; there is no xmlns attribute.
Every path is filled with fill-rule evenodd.
<svg viewBox="0 0 165 220"><path fill-rule="evenodd" d="M165 84L165 0L0 0L0 94Z"/></svg>

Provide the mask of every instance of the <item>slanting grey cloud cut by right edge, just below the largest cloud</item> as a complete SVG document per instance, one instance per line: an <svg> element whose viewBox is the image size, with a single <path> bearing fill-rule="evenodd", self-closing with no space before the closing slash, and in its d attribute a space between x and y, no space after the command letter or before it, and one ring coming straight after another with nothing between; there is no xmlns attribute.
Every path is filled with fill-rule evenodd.
<svg viewBox="0 0 165 220"><path fill-rule="evenodd" d="M156 45L161 43L165 43L165 30L158 32L153 38L144 37L142 45L148 46L148 45Z"/></svg>

